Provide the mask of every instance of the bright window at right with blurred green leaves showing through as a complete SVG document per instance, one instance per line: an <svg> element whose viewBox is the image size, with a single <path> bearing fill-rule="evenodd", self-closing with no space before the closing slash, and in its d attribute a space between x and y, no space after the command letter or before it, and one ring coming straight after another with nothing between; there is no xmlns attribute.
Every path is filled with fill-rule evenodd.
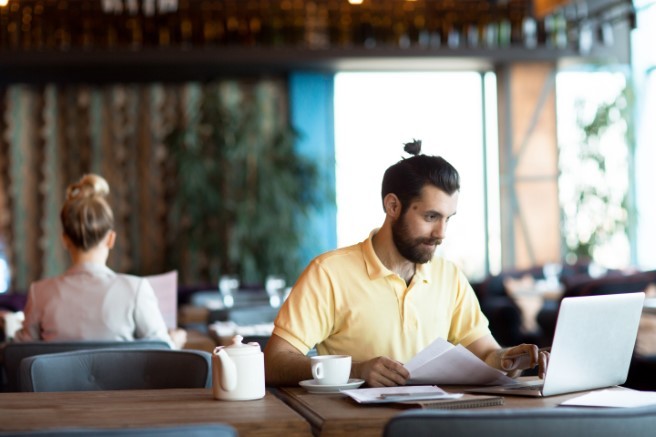
<svg viewBox="0 0 656 437"><path fill-rule="evenodd" d="M622 73L557 76L559 192L568 261L583 256L607 268L630 263L629 126L615 104L625 86ZM599 134L586 134L582 126Z"/></svg>

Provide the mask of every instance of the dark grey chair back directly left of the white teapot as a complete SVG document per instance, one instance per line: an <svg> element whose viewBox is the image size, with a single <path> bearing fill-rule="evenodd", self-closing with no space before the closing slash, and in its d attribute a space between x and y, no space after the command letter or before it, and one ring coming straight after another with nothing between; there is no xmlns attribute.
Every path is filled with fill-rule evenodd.
<svg viewBox="0 0 656 437"><path fill-rule="evenodd" d="M210 388L212 355L164 349L88 349L35 355L20 364L21 391Z"/></svg>

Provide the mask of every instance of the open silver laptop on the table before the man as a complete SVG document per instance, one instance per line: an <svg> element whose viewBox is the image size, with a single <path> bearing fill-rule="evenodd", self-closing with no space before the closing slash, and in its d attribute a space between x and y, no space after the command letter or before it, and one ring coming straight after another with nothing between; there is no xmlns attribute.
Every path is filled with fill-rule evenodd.
<svg viewBox="0 0 656 437"><path fill-rule="evenodd" d="M563 299L544 380L465 391L544 397L623 384L644 300L645 293Z"/></svg>

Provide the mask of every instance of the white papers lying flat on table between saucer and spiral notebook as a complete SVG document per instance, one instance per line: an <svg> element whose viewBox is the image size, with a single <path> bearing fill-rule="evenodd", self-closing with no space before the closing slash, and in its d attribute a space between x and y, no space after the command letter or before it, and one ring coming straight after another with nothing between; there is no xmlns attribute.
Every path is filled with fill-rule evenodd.
<svg viewBox="0 0 656 437"><path fill-rule="evenodd" d="M434 385L360 388L340 391L361 404L458 399L462 397L462 393L447 393Z"/></svg>

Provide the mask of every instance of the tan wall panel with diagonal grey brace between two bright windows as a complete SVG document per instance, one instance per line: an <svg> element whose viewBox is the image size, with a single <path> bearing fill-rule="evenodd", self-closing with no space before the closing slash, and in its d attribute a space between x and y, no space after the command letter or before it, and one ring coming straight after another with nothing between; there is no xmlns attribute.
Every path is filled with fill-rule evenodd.
<svg viewBox="0 0 656 437"><path fill-rule="evenodd" d="M561 260L555 65L497 70L503 266Z"/></svg>

